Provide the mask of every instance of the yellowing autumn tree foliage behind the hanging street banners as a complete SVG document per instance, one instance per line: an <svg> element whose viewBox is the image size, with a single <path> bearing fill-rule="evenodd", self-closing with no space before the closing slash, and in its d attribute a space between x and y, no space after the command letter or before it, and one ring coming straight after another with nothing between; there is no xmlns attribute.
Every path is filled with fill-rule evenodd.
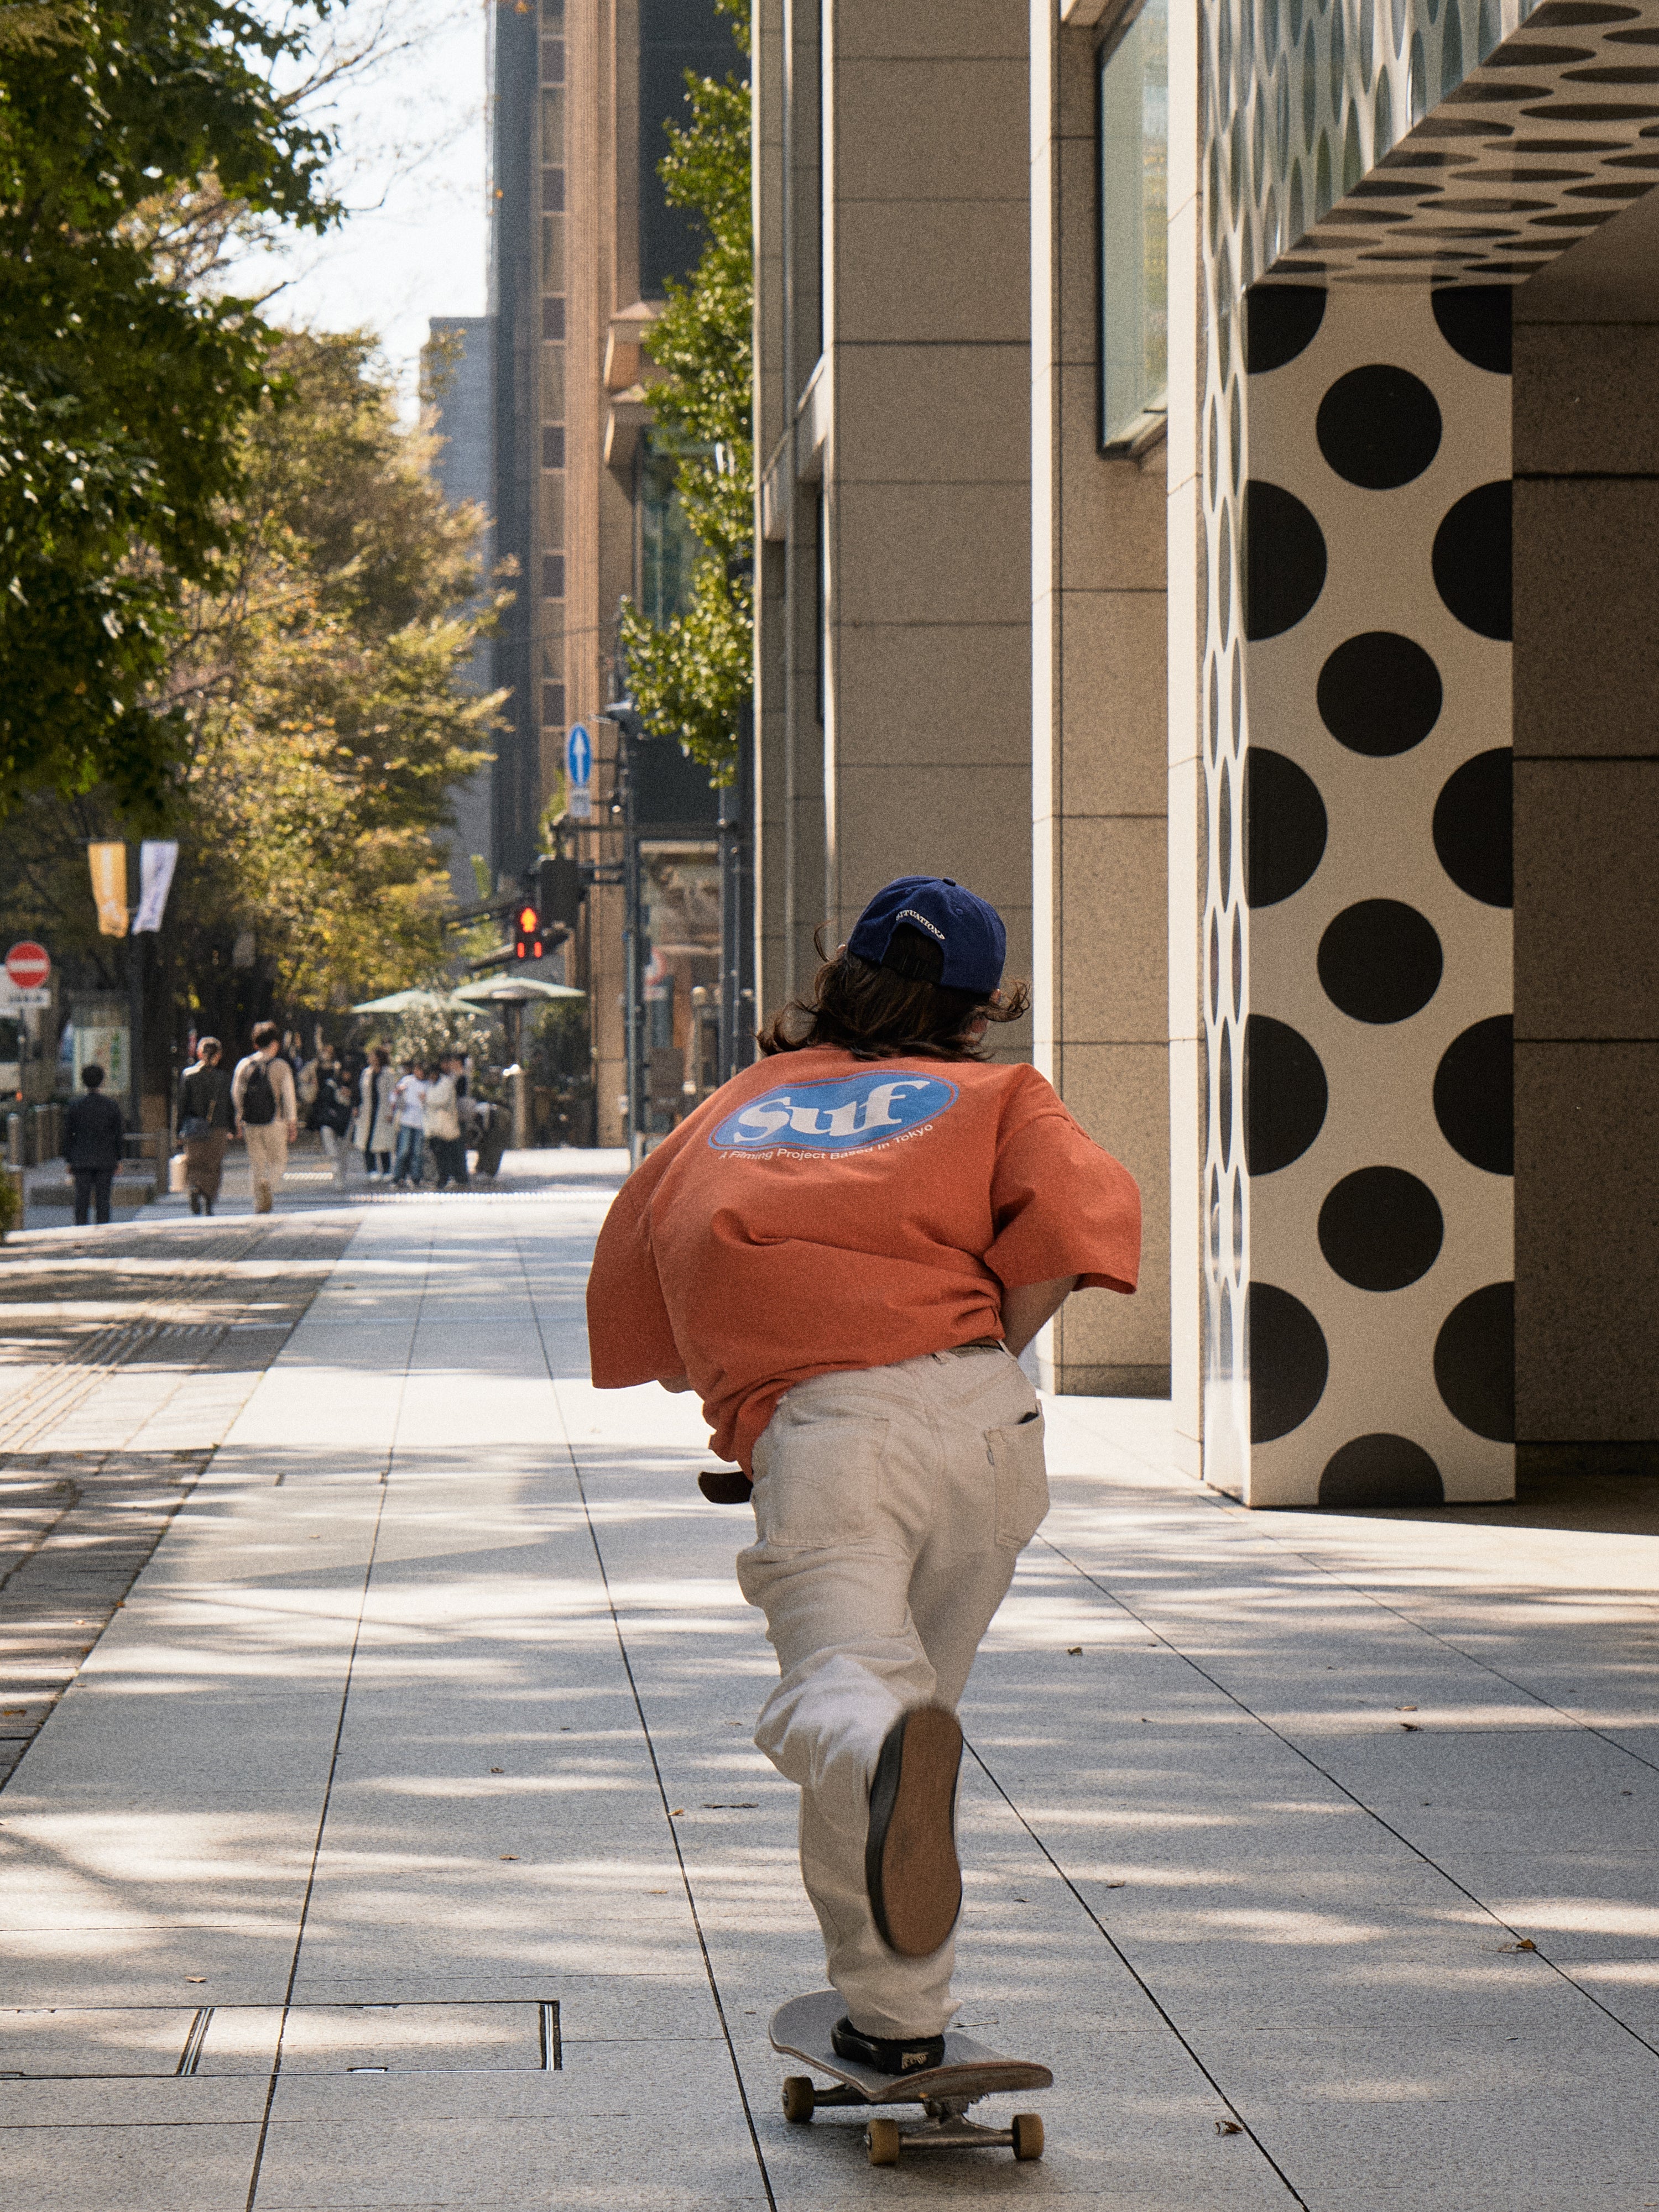
<svg viewBox="0 0 1659 2212"><path fill-rule="evenodd" d="M365 334L288 334L283 400L246 422L239 498L206 586L177 606L159 697L179 838L166 949L197 1026L343 1009L442 964L449 794L489 757L500 701L460 688L491 602L478 509L451 509ZM80 984L117 984L84 841L122 794L31 794L0 843L0 918ZM159 1009L157 1009L159 1011Z"/></svg>

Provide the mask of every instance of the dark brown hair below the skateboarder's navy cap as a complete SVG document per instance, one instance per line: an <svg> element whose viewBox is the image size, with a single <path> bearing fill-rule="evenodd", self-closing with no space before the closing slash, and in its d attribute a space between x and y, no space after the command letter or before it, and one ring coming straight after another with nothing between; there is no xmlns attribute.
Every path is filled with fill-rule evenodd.
<svg viewBox="0 0 1659 2212"><path fill-rule="evenodd" d="M827 925L814 945L825 953ZM911 942L914 940L914 942ZM1026 984L1015 982L995 998L975 991L947 991L933 982L945 958L936 945L900 922L894 951L907 973L858 960L845 947L825 956L812 978L812 991L792 998L757 1033L761 1053L803 1053L810 1044L838 1044L854 1060L891 1060L896 1053L929 1060L987 1060L984 1044L967 1035L975 1020L1018 1022L1031 1004Z"/></svg>

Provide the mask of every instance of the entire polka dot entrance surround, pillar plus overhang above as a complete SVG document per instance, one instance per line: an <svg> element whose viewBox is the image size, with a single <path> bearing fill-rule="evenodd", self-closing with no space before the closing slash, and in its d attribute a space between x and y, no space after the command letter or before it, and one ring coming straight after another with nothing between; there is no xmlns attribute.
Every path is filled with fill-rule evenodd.
<svg viewBox="0 0 1659 2212"><path fill-rule="evenodd" d="M1504 1495L1506 305L1659 175L1659 0L1206 0L1201 73L1206 1478Z"/></svg>

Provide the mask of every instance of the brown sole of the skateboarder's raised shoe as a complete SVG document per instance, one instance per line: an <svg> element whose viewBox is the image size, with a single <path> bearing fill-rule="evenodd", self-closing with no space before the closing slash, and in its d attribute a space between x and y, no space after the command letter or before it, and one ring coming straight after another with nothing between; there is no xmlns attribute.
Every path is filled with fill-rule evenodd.
<svg viewBox="0 0 1659 2212"><path fill-rule="evenodd" d="M876 1929L900 1958L931 1958L962 1911L956 1858L960 1763L962 1730L942 1705L907 1712L883 1745L869 1803L865 1880Z"/></svg>

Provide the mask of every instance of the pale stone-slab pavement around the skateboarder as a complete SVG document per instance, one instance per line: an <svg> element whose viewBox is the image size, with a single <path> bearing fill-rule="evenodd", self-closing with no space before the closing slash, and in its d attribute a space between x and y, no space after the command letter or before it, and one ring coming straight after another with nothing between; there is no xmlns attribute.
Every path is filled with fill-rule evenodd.
<svg viewBox="0 0 1659 2212"><path fill-rule="evenodd" d="M1659 2205L1641 1495L1245 1515L1150 1405L1053 1409L964 1708L964 2026L1053 2064L1048 2154L790 2128L745 1513L584 1380L602 1210L327 1217L0 1794L0 2212Z"/></svg>

